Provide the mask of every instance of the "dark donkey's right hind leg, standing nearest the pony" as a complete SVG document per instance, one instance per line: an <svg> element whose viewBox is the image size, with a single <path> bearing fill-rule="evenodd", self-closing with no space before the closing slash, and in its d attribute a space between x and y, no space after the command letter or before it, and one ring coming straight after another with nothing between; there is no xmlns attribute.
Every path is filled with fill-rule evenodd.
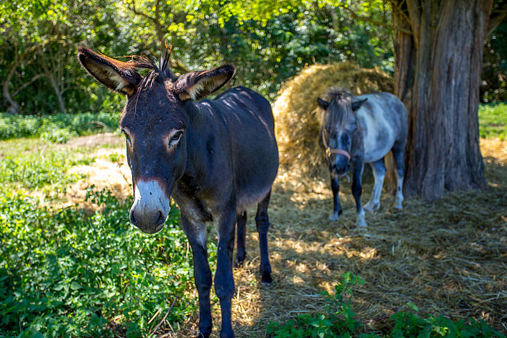
<svg viewBox="0 0 507 338"><path fill-rule="evenodd" d="M271 190L267 193L263 201L260 201L257 208L256 224L259 233L259 246L260 246L260 281L265 285L271 285L273 279L271 278L271 265L269 264L269 255L267 252L267 230L269 228L269 217L267 215L267 206L269 205L269 198Z"/></svg>

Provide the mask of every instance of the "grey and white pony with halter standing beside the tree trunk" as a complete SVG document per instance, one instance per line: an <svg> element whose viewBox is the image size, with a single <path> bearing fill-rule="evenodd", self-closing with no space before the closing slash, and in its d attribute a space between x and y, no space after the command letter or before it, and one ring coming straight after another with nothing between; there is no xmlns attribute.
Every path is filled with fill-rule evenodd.
<svg viewBox="0 0 507 338"><path fill-rule="evenodd" d="M403 202L404 152L408 132L405 105L389 93L379 92L354 96L351 92L332 87L325 99L318 98L322 110L320 136L326 151L331 175L333 213L338 221L342 206L338 198L338 178L346 176L352 163L352 194L356 199L357 226L367 226L361 205L361 176L365 162L372 166L375 183L365 210L380 208L385 177L384 156L392 151L396 163L397 195L394 208ZM348 177L348 176L347 176Z"/></svg>

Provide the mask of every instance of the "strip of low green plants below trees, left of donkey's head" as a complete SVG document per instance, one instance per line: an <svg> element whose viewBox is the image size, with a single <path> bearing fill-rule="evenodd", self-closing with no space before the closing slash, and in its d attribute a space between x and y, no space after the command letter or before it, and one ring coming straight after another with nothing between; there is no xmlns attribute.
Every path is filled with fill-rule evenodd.
<svg viewBox="0 0 507 338"><path fill-rule="evenodd" d="M106 112L42 116L0 113L0 140L41 135L44 140L65 143L74 135L115 130L117 124L117 115Z"/></svg>

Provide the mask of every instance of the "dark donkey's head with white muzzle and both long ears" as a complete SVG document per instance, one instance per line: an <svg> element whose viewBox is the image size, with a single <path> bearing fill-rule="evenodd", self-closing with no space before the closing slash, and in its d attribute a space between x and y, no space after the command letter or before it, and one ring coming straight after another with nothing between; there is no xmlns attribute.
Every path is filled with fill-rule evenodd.
<svg viewBox="0 0 507 338"><path fill-rule="evenodd" d="M126 139L131 167L134 203L130 220L144 233L163 228L169 198L187 164L189 100L201 99L222 87L234 74L232 65L208 71L192 71L173 80L167 69L169 55L160 69L140 76L135 67L146 63L120 62L85 47L78 48L81 65L112 90L127 95L119 126Z"/></svg>

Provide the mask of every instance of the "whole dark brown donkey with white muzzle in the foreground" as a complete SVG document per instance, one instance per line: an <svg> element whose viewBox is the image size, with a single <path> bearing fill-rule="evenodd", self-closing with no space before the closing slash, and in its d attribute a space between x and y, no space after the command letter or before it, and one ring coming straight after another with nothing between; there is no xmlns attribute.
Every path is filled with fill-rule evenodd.
<svg viewBox="0 0 507 338"><path fill-rule="evenodd" d="M233 247L238 223L236 264L245 257L246 210L258 203L261 281L272 283L267 251L267 207L279 166L269 102L257 92L235 87L203 99L234 75L233 65L190 71L175 78L169 52L157 67L147 60L121 62L78 47L81 65L100 83L126 94L119 127L125 135L134 202L130 221L144 233L163 228L172 196L194 256L199 292L199 336L212 329L212 276L206 249L206 223L217 226L215 291L222 310L220 337L234 337ZM141 76L136 67L151 69Z"/></svg>

